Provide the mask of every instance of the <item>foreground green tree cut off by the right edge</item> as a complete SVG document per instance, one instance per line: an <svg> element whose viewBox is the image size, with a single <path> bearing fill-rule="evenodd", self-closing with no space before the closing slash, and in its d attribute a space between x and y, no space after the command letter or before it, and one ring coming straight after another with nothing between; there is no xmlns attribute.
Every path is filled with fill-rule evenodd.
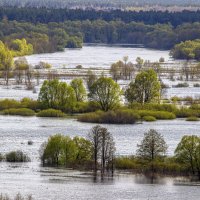
<svg viewBox="0 0 200 200"><path fill-rule="evenodd" d="M175 150L177 160L189 166L192 174L198 174L200 180L200 137L183 136Z"/></svg>

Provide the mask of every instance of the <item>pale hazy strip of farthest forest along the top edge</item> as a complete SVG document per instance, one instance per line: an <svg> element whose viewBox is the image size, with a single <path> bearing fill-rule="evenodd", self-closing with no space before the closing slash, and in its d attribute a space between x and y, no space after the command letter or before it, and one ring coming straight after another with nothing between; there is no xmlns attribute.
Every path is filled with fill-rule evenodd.
<svg viewBox="0 0 200 200"><path fill-rule="evenodd" d="M71 8L71 7L95 7L120 8L144 5L200 5L200 0L1 0L1 6L18 7L47 7L47 8Z"/></svg>

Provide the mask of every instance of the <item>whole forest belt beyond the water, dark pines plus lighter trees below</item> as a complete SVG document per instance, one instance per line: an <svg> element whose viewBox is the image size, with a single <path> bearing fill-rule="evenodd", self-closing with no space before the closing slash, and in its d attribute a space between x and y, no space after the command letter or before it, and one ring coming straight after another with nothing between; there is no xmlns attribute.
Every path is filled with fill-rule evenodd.
<svg viewBox="0 0 200 200"><path fill-rule="evenodd" d="M0 7L0 40L26 39L35 53L82 43L142 44L172 49L200 38L200 11L125 12Z"/></svg>

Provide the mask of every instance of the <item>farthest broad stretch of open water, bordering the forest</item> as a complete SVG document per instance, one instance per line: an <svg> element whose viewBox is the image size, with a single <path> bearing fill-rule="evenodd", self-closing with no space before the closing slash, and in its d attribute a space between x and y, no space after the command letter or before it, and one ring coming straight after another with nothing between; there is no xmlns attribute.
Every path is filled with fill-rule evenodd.
<svg viewBox="0 0 200 200"><path fill-rule="evenodd" d="M54 68L74 68L82 65L84 68L101 67L110 68L112 63L122 60L124 56L129 57L129 61L135 63L137 57L151 62L158 61L161 57L166 62L172 61L169 51L146 49L142 47L130 46L108 46L108 45L84 45L81 49L65 49L63 52L35 54L26 56L32 65L40 61L50 63Z"/></svg>

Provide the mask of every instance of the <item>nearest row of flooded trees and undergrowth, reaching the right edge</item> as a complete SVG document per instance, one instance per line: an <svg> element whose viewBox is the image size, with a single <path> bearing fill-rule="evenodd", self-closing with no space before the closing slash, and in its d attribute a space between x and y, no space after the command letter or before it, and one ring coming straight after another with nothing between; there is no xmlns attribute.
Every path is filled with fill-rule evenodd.
<svg viewBox="0 0 200 200"><path fill-rule="evenodd" d="M144 133L143 139L137 145L135 155L116 156L112 134L106 128L97 125L91 128L86 138L70 138L61 134L51 136L42 144L40 158L44 166L89 169L95 174L100 171L101 175L110 172L113 174L114 169L131 169L133 160L140 166L142 173L159 173L160 164L163 168L161 173L167 174L168 162L171 161L174 166L170 169L171 174L178 169L178 175L191 175L200 180L200 137L183 136L173 157L166 156L167 149L164 137L156 130L150 129Z"/></svg>

